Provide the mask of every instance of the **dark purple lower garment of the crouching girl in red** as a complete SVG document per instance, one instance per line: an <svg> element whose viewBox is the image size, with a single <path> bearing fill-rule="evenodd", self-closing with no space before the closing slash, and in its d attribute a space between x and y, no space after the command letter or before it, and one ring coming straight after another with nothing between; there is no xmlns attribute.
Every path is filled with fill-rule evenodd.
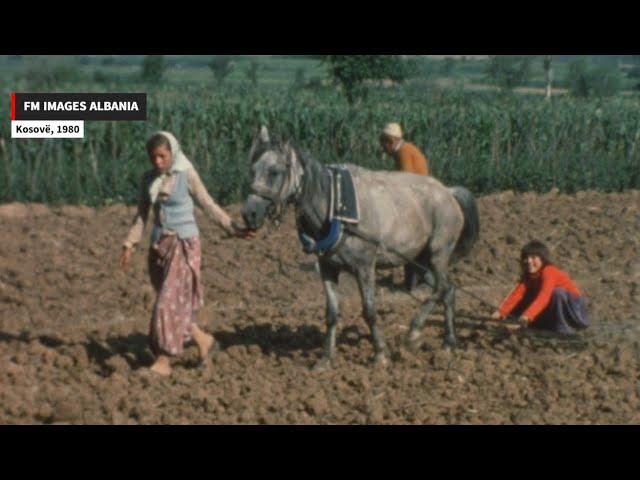
<svg viewBox="0 0 640 480"><path fill-rule="evenodd" d="M528 302L521 302L511 315L519 317L528 306ZM531 328L565 334L574 334L576 330L583 330L588 326L589 319L584 299L572 295L564 288L553 290L549 305L531 324Z"/></svg>

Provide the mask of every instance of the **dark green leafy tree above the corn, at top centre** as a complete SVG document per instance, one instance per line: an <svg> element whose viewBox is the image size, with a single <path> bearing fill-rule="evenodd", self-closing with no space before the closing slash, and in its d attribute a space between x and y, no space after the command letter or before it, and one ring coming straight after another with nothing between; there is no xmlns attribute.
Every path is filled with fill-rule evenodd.
<svg viewBox="0 0 640 480"><path fill-rule="evenodd" d="M367 80L403 82L413 74L413 63L400 55L327 55L329 74L342 87L349 103L367 95Z"/></svg>

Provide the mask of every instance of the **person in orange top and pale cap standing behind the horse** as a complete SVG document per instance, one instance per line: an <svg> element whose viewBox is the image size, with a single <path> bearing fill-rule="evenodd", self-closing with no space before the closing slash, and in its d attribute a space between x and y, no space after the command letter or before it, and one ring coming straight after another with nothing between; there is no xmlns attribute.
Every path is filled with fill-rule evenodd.
<svg viewBox="0 0 640 480"><path fill-rule="evenodd" d="M388 123L380 135L380 145L387 155L394 158L396 168L401 172L429 175L427 157L413 143L403 139L402 128L397 123ZM413 265L404 267L404 284L408 291L418 284L418 272Z"/></svg>

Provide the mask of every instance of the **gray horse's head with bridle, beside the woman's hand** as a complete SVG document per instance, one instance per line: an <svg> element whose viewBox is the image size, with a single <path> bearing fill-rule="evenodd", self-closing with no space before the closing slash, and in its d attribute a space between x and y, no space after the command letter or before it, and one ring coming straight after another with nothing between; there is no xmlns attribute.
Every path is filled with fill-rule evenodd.
<svg viewBox="0 0 640 480"><path fill-rule="evenodd" d="M272 141L263 126L250 153L253 191L242 207L242 218L251 229L262 227L265 218L278 216L300 192L302 165L288 144Z"/></svg>

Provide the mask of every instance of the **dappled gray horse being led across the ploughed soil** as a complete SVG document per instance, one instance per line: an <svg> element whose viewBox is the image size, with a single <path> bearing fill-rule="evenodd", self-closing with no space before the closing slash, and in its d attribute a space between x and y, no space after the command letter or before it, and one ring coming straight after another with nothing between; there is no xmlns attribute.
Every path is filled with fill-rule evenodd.
<svg viewBox="0 0 640 480"><path fill-rule="evenodd" d="M319 239L326 235L330 189L327 168L292 147L272 141L262 127L251 149L251 185L242 216L251 229L259 229L287 203L295 205L299 230ZM478 238L475 200L462 188L447 188L430 176L401 172L376 172L347 165L357 187L363 236L346 231L338 247L318 257L326 296L327 333L324 356L315 369L331 366L338 321L338 276L355 275L362 298L363 316L371 330L375 361L386 364L387 347L376 326L375 271L415 259L433 282L433 295L411 321L406 345L415 348L427 316L437 303L445 308L444 345L456 345L454 324L455 286L449 264L466 256ZM377 242L371 241L377 240Z"/></svg>

